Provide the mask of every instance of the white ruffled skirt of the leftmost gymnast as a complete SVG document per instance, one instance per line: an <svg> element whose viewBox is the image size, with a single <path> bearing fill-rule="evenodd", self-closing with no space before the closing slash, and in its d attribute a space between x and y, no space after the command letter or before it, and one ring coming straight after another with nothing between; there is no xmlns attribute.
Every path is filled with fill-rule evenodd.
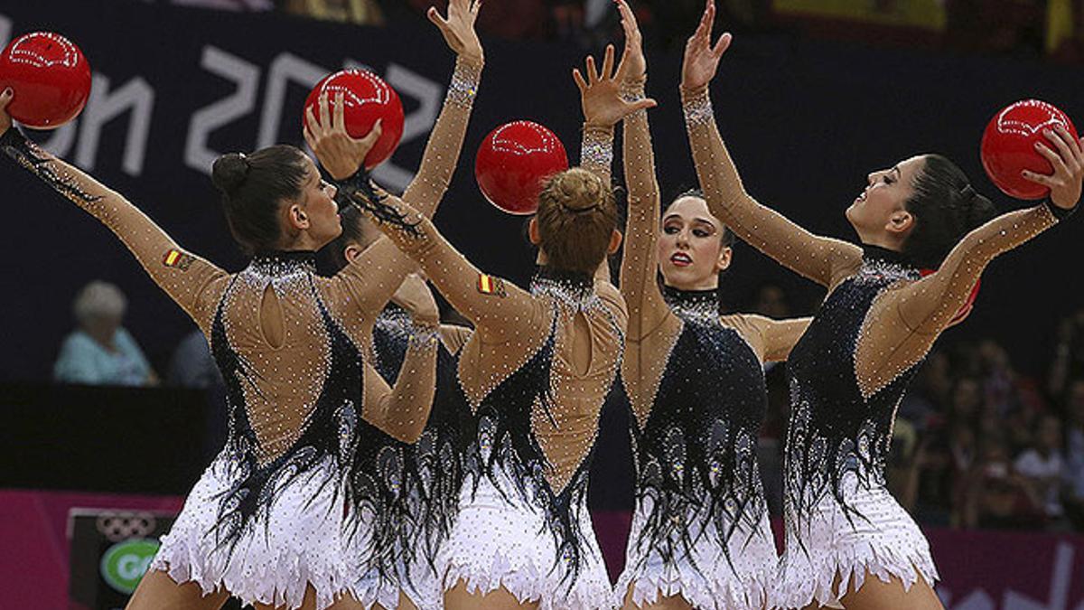
<svg viewBox="0 0 1084 610"><path fill-rule="evenodd" d="M338 475L333 458L280 485L270 510L254 518L232 552L214 534L230 471L224 454L204 471L150 569L177 583L195 582L205 594L224 588L245 603L299 608L309 585L318 610L353 595L343 544L345 505L338 485L328 483Z"/></svg>

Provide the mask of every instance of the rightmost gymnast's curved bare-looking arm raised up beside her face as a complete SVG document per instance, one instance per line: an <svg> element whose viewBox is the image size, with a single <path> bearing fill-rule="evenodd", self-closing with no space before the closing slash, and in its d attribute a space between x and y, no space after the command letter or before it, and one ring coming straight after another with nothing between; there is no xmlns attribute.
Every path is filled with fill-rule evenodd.
<svg viewBox="0 0 1084 610"><path fill-rule="evenodd" d="M719 135L708 84L730 47L731 35L723 34L711 46L714 14L714 3L709 0L700 25L685 47L682 68L685 126L708 206L743 241L817 283L833 285L841 274L860 264L862 250L814 236L752 199Z"/></svg>

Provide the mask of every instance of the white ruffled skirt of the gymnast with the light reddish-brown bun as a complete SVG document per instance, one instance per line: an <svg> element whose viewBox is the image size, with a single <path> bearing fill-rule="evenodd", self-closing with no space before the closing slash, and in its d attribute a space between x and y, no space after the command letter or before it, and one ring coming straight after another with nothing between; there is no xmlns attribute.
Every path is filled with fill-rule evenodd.
<svg viewBox="0 0 1084 610"><path fill-rule="evenodd" d="M496 478L500 490L486 476L477 488L473 481L463 485L459 516L439 554L444 589L462 581L475 594L503 586L520 602L538 602L539 610L612 608L612 589L586 506L579 507L580 573L569 582L563 579L565 565L543 510L524 501L505 473Z"/></svg>

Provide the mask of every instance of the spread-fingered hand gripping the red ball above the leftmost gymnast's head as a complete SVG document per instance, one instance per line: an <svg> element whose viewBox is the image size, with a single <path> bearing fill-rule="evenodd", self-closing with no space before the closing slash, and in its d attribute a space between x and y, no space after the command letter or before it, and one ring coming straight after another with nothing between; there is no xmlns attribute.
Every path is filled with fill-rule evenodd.
<svg viewBox="0 0 1084 610"><path fill-rule="evenodd" d="M327 100L327 92L323 92L317 102L320 107L320 119L317 120L312 106L305 109L305 141L308 142L312 152L317 153L320 165L331 174L332 178L341 180L353 176L361 164L365 161L365 155L376 144L383 132L380 120L377 119L373 128L364 138L354 139L346 130L344 116L343 93L335 96L335 107L331 107Z"/></svg>

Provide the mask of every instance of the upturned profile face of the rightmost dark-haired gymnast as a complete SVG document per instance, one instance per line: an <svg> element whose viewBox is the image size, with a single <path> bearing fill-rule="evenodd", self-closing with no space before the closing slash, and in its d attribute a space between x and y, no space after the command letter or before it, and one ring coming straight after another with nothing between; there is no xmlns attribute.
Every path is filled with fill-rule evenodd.
<svg viewBox="0 0 1084 610"><path fill-rule="evenodd" d="M915 194L915 178L925 166L925 157L913 156L869 174L865 190L847 208L847 219L863 243L899 250L914 227L904 204Z"/></svg>

